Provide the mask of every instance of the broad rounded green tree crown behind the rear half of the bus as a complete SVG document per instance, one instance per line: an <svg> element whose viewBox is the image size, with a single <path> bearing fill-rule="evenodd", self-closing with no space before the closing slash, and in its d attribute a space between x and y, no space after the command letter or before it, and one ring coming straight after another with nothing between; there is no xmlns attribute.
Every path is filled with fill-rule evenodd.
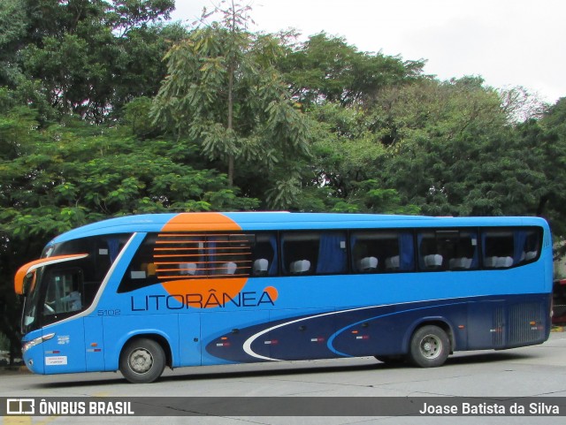
<svg viewBox="0 0 566 425"><path fill-rule="evenodd" d="M479 78L395 87L372 121L387 147L379 181L424 214L539 215L553 190L545 169L561 158L559 146L544 141L537 121L516 125Z"/></svg>

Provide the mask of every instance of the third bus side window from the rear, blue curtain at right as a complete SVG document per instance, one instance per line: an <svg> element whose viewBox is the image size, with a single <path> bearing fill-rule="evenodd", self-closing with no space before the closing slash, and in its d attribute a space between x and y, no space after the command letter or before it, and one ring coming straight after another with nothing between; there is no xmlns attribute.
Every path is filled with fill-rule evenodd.
<svg viewBox="0 0 566 425"><path fill-rule="evenodd" d="M350 249L355 273L414 269L410 231L355 231L350 236Z"/></svg>

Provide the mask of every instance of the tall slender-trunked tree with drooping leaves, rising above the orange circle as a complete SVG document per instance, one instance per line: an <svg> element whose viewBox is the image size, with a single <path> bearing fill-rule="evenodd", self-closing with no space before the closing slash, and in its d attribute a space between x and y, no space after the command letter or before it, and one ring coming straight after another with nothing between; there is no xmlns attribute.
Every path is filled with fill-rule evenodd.
<svg viewBox="0 0 566 425"><path fill-rule="evenodd" d="M229 186L248 179L250 170L267 177L268 205L286 208L297 194L297 163L309 156L307 121L274 66L279 41L246 31L247 6L218 11L221 23L197 27L166 54L154 122L227 164Z"/></svg>

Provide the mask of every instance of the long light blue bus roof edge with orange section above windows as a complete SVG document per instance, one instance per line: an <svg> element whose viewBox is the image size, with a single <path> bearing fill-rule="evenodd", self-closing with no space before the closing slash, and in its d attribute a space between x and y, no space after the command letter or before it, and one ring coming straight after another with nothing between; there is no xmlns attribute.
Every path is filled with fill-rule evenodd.
<svg viewBox="0 0 566 425"><path fill-rule="evenodd" d="M394 216L379 214L289 212L195 212L146 214L110 218L67 231L50 244L71 239L116 233L157 231L274 231L309 229L363 229L392 227L467 227L541 225L539 217L489 216Z"/></svg>

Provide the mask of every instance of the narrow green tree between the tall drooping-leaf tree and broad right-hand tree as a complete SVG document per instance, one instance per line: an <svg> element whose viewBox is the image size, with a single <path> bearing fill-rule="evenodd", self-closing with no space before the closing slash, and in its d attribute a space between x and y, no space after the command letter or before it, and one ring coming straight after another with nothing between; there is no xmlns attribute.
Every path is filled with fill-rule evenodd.
<svg viewBox="0 0 566 425"><path fill-rule="evenodd" d="M386 148L372 133L364 110L336 102L313 105L313 156L302 172L301 201L306 211L417 214L418 207L403 201L376 176Z"/></svg>

